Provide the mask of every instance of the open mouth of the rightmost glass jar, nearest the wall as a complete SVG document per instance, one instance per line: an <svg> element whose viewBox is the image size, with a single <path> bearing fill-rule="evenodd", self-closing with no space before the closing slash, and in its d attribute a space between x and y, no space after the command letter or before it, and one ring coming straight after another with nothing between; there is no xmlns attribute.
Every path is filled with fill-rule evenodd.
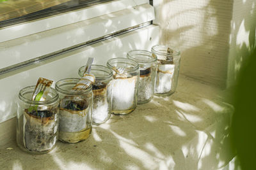
<svg viewBox="0 0 256 170"><path fill-rule="evenodd" d="M167 50L173 50L173 53L168 53ZM156 53L158 55L168 55L168 56L177 56L180 55L180 51L177 50L177 48L175 48L174 46L166 46L166 45L154 45L151 48L151 51L153 53Z"/></svg>

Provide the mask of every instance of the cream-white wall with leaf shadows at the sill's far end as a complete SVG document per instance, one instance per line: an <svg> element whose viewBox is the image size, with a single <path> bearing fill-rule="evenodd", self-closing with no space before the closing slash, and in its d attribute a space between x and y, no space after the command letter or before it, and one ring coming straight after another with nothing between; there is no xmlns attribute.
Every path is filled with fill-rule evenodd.
<svg viewBox="0 0 256 170"><path fill-rule="evenodd" d="M161 43L182 52L181 73L218 87L234 82L237 55L255 42L255 0L159 0L154 6Z"/></svg>

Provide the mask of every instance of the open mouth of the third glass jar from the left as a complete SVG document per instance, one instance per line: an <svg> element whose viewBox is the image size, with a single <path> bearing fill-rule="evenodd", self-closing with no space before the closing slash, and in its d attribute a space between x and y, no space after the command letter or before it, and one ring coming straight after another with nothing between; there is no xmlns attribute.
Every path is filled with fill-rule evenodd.
<svg viewBox="0 0 256 170"><path fill-rule="evenodd" d="M82 66L79 68L79 70L78 70L79 76L81 76L81 77L83 76L85 67L86 66ZM97 75L93 74L93 71L101 71L102 73L106 73L106 75L97 76ZM97 65L97 64L92 64L91 73L95 76L95 80L105 80L105 79L111 78L113 76L113 72L111 69L109 69L106 66Z"/></svg>

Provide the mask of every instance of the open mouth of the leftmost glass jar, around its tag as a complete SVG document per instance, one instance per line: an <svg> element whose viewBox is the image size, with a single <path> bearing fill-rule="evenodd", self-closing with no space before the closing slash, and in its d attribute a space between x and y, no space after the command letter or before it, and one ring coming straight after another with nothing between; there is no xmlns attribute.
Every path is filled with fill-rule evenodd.
<svg viewBox="0 0 256 170"><path fill-rule="evenodd" d="M57 101L59 99L58 92L56 92L56 90L51 87L50 91L48 92L48 94L52 95L51 99L46 99L45 101L32 101L32 94L35 90L35 87L36 87L35 85L32 85L32 86L21 89L19 92L19 99L26 103L36 104L36 105L53 103L54 101ZM28 98L25 96L26 94L31 94L31 96Z"/></svg>

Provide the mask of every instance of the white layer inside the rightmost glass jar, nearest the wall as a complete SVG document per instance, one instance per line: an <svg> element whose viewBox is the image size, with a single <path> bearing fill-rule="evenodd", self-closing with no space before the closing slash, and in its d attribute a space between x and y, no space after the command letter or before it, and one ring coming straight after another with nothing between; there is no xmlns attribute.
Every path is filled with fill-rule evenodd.
<svg viewBox="0 0 256 170"><path fill-rule="evenodd" d="M175 70L174 64L159 64L159 71L168 71L169 73L161 73L157 71L155 93L166 93L172 90L172 77Z"/></svg>

